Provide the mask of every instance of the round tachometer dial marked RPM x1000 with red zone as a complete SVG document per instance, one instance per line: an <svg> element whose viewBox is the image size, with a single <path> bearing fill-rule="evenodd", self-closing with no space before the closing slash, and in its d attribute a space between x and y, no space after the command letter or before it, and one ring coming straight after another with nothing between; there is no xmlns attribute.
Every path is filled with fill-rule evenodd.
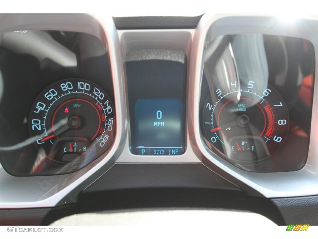
<svg viewBox="0 0 318 239"><path fill-rule="evenodd" d="M232 163L256 165L274 155L284 143L289 128L284 100L272 87L255 89L256 80L239 88L216 88L202 108L201 128L209 148Z"/></svg>

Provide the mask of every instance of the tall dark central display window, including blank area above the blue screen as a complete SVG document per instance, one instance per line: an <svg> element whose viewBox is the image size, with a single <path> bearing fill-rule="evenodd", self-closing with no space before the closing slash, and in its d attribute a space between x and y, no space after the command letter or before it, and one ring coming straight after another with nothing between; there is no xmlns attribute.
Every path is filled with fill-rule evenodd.
<svg viewBox="0 0 318 239"><path fill-rule="evenodd" d="M151 57L169 60L149 60ZM132 154L171 157L184 154L185 62L182 51L142 50L126 55Z"/></svg>

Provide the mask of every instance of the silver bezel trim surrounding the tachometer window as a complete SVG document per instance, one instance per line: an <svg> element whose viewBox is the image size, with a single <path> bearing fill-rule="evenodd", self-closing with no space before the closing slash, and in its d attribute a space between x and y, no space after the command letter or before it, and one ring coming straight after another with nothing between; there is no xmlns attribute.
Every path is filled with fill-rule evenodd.
<svg viewBox="0 0 318 239"><path fill-rule="evenodd" d="M304 24L305 26L304 27ZM189 101L191 102L190 111L193 115L192 121L194 138L193 145L197 146L195 150L198 158L211 170L218 173L221 177L227 178L232 183L238 185L249 195L263 195L267 198L297 197L318 194L318 150L316 145L318 138L315 132L318 131L318 112L313 111L312 125L310 135L309 156L306 165L294 172L275 172L275 173L255 173L240 170L234 165L221 159L211 152L205 145L199 128L199 100L200 85L203 71L203 58L206 47L214 38L236 33L259 33L270 35L282 35L304 38L311 41L318 49L317 38L318 21L317 18L296 19L292 23L281 21L277 16L252 16L252 15L204 15L197 31L194 35L192 48L190 78L194 79L189 88L194 89L189 92ZM315 55L315 61L318 62L318 56ZM318 72L316 64L315 72ZM315 82L317 83L317 74ZM314 86L313 109L318 106L318 84Z"/></svg>

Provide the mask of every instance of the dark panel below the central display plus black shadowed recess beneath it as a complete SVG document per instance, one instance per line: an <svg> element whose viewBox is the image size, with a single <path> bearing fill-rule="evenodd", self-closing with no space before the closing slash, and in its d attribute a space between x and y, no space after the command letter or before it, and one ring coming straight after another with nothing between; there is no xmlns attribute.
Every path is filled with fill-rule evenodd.
<svg viewBox="0 0 318 239"><path fill-rule="evenodd" d="M202 164L115 164L80 195L81 210L232 208L248 210L238 187Z"/></svg>

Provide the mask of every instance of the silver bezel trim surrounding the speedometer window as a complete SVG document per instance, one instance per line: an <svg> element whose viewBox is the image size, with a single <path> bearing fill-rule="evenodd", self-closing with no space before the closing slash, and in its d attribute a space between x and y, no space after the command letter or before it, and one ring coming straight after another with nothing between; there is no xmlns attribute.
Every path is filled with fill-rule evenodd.
<svg viewBox="0 0 318 239"><path fill-rule="evenodd" d="M112 68L117 117L112 147L85 168L66 175L13 177L0 168L0 208L52 207L63 199L75 202L78 192L112 167L121 154L127 132L126 99L120 43L113 19L86 14L3 14L0 32L17 30L59 30L89 33L98 37L108 51Z"/></svg>

